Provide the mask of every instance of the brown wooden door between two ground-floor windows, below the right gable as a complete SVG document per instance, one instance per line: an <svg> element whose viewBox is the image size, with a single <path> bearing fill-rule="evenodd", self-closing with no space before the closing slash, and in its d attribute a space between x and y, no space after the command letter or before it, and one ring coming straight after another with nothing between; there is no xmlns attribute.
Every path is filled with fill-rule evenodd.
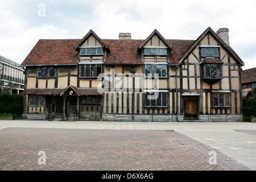
<svg viewBox="0 0 256 182"><path fill-rule="evenodd" d="M199 119L198 97L184 97L184 120Z"/></svg>

